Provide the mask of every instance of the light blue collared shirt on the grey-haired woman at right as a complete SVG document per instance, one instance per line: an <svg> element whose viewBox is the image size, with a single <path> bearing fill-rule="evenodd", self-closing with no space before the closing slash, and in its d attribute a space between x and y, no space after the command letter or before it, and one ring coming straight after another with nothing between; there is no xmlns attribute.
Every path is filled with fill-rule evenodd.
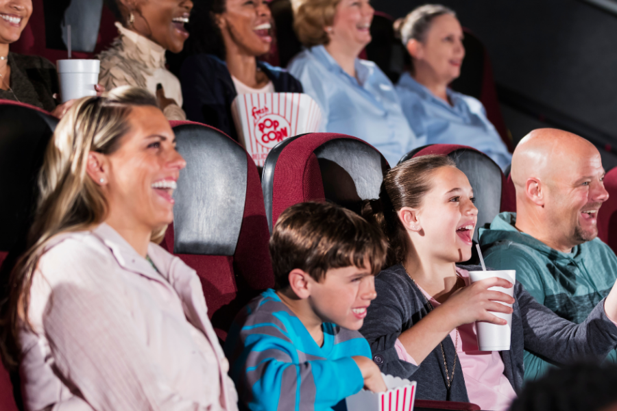
<svg viewBox="0 0 617 411"><path fill-rule="evenodd" d="M448 88L452 102L449 105L416 82L409 73L400 77L396 92L407 121L422 145L468 145L488 155L501 169L510 164L511 153L477 99Z"/></svg>

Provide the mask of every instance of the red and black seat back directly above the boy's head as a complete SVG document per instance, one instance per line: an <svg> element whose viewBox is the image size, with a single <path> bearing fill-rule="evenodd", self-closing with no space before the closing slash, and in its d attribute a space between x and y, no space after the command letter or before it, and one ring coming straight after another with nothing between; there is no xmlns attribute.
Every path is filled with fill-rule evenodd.
<svg viewBox="0 0 617 411"><path fill-rule="evenodd" d="M270 151L262 186L270 229L283 210L303 201L332 201L360 212L376 199L389 165L359 138L309 133L288 138Z"/></svg>

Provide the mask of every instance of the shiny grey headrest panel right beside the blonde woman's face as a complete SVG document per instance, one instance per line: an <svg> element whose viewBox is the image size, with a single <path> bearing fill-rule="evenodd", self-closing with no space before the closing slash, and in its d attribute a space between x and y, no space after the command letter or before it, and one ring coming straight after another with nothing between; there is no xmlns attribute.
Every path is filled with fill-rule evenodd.
<svg viewBox="0 0 617 411"><path fill-rule="evenodd" d="M246 152L205 125L178 125L173 132L186 160L173 193L173 252L233 256L246 199Z"/></svg>

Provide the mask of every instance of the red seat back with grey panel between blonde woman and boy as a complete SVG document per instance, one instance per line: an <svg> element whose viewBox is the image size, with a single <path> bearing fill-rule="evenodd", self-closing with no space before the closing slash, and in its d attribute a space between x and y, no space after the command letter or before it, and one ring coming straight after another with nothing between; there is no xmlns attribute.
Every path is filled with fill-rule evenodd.
<svg viewBox="0 0 617 411"><path fill-rule="evenodd" d="M274 286L259 175L247 152L219 130L189 121L171 125L186 168L162 245L197 271L224 339L249 299Z"/></svg>

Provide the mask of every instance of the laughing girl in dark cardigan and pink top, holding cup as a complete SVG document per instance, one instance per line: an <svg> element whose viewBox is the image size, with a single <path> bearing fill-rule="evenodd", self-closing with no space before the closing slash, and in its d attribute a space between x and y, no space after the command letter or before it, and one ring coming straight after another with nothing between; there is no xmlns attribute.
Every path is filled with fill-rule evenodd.
<svg viewBox="0 0 617 411"><path fill-rule="evenodd" d="M418 398L506 410L522 388L523 349L554 364L601 361L617 345L617 288L577 325L537 303L517 282L470 284L457 266L471 257L478 210L465 174L450 158L424 155L391 169L366 214L387 234L387 265L361 333L383 373L418 381ZM514 299L489 288L514 286ZM513 303L513 308L502 303ZM509 351L479 351L475 321L504 325Z"/></svg>

